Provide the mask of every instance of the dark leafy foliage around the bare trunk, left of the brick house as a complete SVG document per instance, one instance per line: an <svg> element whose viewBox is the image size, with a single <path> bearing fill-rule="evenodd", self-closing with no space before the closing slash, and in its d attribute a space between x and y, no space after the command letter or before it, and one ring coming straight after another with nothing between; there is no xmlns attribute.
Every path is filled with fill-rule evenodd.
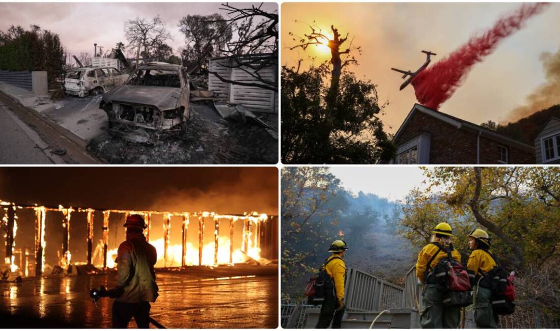
<svg viewBox="0 0 560 331"><path fill-rule="evenodd" d="M395 153L377 115L374 83L343 71L338 95L326 104L326 64L300 72L282 67L282 162L373 164Z"/></svg>

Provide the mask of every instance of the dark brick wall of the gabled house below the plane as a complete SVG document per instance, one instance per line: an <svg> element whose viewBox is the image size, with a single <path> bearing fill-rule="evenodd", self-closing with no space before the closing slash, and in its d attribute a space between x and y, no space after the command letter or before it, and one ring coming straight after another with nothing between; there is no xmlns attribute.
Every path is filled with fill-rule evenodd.
<svg viewBox="0 0 560 331"><path fill-rule="evenodd" d="M430 164L476 164L477 133L417 111L394 142L400 146L421 133L430 134ZM498 146L508 147L508 163L534 164L535 155L508 144L480 137L480 164L498 164Z"/></svg>

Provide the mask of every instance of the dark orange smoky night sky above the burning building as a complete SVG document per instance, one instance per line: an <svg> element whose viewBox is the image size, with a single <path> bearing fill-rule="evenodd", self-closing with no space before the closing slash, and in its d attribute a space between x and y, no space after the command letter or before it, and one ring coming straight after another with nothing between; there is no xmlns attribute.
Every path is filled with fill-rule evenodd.
<svg viewBox="0 0 560 331"><path fill-rule="evenodd" d="M54 207L278 215L278 169L3 167L0 199Z"/></svg>

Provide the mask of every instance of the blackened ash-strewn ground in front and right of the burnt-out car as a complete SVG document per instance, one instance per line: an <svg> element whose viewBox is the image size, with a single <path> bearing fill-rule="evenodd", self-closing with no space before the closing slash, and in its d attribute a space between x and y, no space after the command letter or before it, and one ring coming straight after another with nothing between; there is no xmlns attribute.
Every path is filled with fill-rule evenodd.
<svg viewBox="0 0 560 331"><path fill-rule="evenodd" d="M91 139L88 151L111 164L276 164L278 140L258 125L222 119L212 106L193 105L186 138L150 145L111 137ZM277 115L264 122L277 127Z"/></svg>

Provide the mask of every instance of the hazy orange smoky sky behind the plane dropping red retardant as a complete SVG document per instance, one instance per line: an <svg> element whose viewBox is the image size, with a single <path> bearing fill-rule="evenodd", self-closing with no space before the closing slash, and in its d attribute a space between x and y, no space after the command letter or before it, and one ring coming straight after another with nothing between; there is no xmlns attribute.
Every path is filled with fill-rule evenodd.
<svg viewBox="0 0 560 331"><path fill-rule="evenodd" d="M520 5L505 2L284 2L281 64L295 67L298 59L306 59L301 64L301 68L306 69L330 59L330 52L324 47L290 50L297 45L297 36L310 32L306 24L315 22L327 35L332 34L331 25L343 36L348 33L351 44L348 42L343 48L360 46L361 54L354 52L359 65L347 69L361 80L376 84L380 104L389 102L381 119L385 129L395 133L417 101L412 86L399 91L402 74L391 68L416 71L426 59L421 50L437 54L432 58L433 65ZM440 111L476 124L488 120L503 123L558 102L555 76L558 72L556 52L560 46L558 17L558 3L531 17L521 30L504 39L492 54L473 67L463 85L442 104ZM307 59L309 56L315 59ZM514 111L518 108L520 110Z"/></svg>

